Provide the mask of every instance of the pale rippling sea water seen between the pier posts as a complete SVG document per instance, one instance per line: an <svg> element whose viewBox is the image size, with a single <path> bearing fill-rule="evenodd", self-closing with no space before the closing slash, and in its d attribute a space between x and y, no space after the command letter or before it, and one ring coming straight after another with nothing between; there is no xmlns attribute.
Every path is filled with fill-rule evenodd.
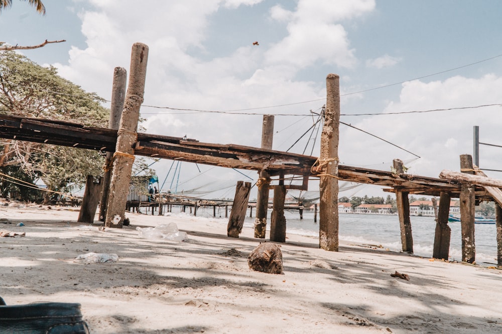
<svg viewBox="0 0 502 334"><path fill-rule="evenodd" d="M267 231L270 230L270 212L267 218ZM255 211L253 217L247 217L244 221L245 227L254 227ZM197 210L198 216L212 217L212 208L208 210ZM217 217L223 215L218 211ZM317 223L314 222L314 213L312 211L303 211L303 219L300 219L298 210L285 211L286 217L286 236L288 234L300 234L313 237L319 237L319 215ZM357 214L357 213L339 213L338 214L339 239L351 244L375 245L389 248L393 251L400 251L401 231L399 228L399 217L397 215L380 214ZM228 219L221 218L224 223ZM432 257L434 234L436 221L434 217L411 216L411 227L413 235L413 252L415 255ZM449 222L451 228L450 239L450 260L462 260L462 239L460 222ZM268 237L267 233L267 237ZM487 264L497 263L497 243L495 224L475 224L474 243L476 247L476 262Z"/></svg>

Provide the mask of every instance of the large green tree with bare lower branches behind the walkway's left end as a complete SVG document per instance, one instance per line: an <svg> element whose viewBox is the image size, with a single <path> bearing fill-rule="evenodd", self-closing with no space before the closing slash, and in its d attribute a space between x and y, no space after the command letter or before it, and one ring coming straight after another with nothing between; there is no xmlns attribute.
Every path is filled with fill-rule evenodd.
<svg viewBox="0 0 502 334"><path fill-rule="evenodd" d="M54 67L39 66L12 51L0 52L0 114L105 127L109 110L102 101L58 76ZM103 162L98 151L0 140L0 172L13 166L27 179L42 179L53 191L73 191L87 175L101 175Z"/></svg>

